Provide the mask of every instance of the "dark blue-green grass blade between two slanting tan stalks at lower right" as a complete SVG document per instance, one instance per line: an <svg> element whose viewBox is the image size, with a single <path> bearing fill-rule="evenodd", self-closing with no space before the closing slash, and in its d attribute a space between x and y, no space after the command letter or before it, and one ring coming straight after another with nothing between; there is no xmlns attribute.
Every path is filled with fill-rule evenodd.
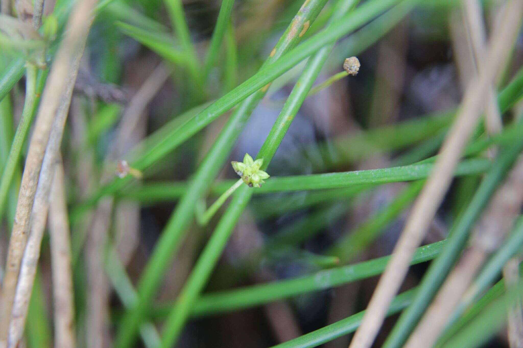
<svg viewBox="0 0 523 348"><path fill-rule="evenodd" d="M494 193L496 187L501 183L506 172L516 160L523 148L523 139L518 139L513 145L505 147L497 156L491 169L477 188L467 210L461 215L459 221L454 224L450 232L449 242L444 252L431 263L428 271L419 286L419 291L414 303L405 310L400 319L385 341L384 347L402 346L418 319L423 315L431 299L436 294L439 286L445 280L447 273L459 257L460 252L467 241L469 231L476 219L486 206L486 203Z"/></svg>

